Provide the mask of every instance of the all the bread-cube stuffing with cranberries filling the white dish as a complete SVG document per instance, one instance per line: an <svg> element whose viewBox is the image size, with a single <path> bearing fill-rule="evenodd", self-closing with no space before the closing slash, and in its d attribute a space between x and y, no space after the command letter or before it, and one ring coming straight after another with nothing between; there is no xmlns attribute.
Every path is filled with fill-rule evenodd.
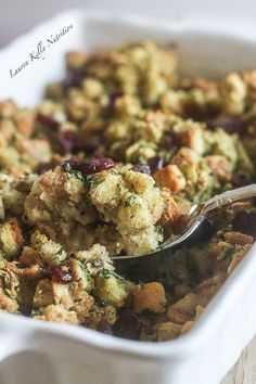
<svg viewBox="0 0 256 384"><path fill-rule="evenodd" d="M256 202L194 203L255 181L256 71L183 78L145 40L66 54L34 108L0 101L0 309L164 342L189 332L246 257Z"/></svg>

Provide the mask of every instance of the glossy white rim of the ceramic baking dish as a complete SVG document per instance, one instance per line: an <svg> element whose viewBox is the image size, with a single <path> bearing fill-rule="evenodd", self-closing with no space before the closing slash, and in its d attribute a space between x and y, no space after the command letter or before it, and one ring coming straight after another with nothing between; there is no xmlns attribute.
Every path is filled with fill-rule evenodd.
<svg viewBox="0 0 256 384"><path fill-rule="evenodd" d="M60 12L53 17L49 17L42 23L26 31L22 36L12 40L9 44L0 49L0 60L8 54L8 51L15 49L15 47L22 44L22 42L29 38L33 34L38 34L40 29L44 28L49 22L53 22L60 17L66 15L72 15L77 18L94 20L104 22L111 22L113 20L118 20L118 23L126 23L126 25L132 27L132 25L139 25L140 27L146 28L158 28L159 30L172 30L178 33L189 34L190 30L193 33L206 33L212 36L222 36L231 37L238 42L253 42L256 46L256 39L253 34L253 28L248 28L247 22L243 24L246 28L231 30L230 26L234 26L235 22L230 22L223 24L223 20L200 20L197 17L192 17L191 20L185 20L181 17L174 17L169 22L163 21L161 18L149 17L137 15L128 12L107 12L107 11L95 11L88 10L86 8L72 8L64 12ZM217 24L216 24L217 23ZM241 21L240 21L241 23ZM216 30L213 29L213 26ZM217 27L216 27L217 26ZM240 24L241 26L241 24ZM252 25L253 27L253 25ZM125 338L119 338L116 336L104 335L100 332L86 329L78 325L60 324L52 323L42 320L36 320L31 318L26 318L21 315L12 315L9 312L0 311L0 333L1 323L8 328L12 328L15 331L15 325L18 328L26 329L31 332L42 331L48 334L55 334L65 338L72 338L77 342L86 343L90 347L97 349L104 348L105 350L112 350L115 354L123 354L129 356L137 356L140 358L151 358L151 359L168 359L171 356L185 356L193 350L197 350L210 335L220 327L221 321L226 318L229 312L229 308L233 305L236 299L236 293L239 290L245 290L253 279L253 266L254 257L256 253L256 244L252 246L246 257L241 261L241 264L235 268L232 274L227 279L223 285L220 287L218 293L210 300L206 307L204 313L196 320L195 325L187 334L179 336L176 340L159 342L159 343L146 343L140 341L130 341ZM61 325L61 327L60 327ZM5 327L3 328L5 329Z"/></svg>

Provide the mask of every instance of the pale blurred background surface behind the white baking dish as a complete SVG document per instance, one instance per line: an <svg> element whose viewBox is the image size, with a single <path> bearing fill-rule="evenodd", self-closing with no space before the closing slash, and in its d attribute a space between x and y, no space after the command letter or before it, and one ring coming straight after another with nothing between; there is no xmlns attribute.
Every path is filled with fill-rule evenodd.
<svg viewBox="0 0 256 384"><path fill-rule="evenodd" d="M39 22L71 7L137 12L166 20L202 15L254 21L256 16L255 0L0 0L0 47Z"/></svg>

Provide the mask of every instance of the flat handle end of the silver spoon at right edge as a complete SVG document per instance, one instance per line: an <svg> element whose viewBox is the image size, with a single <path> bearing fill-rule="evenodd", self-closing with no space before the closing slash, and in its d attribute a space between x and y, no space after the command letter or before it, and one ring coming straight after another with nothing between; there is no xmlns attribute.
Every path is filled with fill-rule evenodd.
<svg viewBox="0 0 256 384"><path fill-rule="evenodd" d="M227 191L209 199L204 205L204 210L207 213L212 209L220 208L222 206L254 196L256 196L256 184L236 188L235 190Z"/></svg>

